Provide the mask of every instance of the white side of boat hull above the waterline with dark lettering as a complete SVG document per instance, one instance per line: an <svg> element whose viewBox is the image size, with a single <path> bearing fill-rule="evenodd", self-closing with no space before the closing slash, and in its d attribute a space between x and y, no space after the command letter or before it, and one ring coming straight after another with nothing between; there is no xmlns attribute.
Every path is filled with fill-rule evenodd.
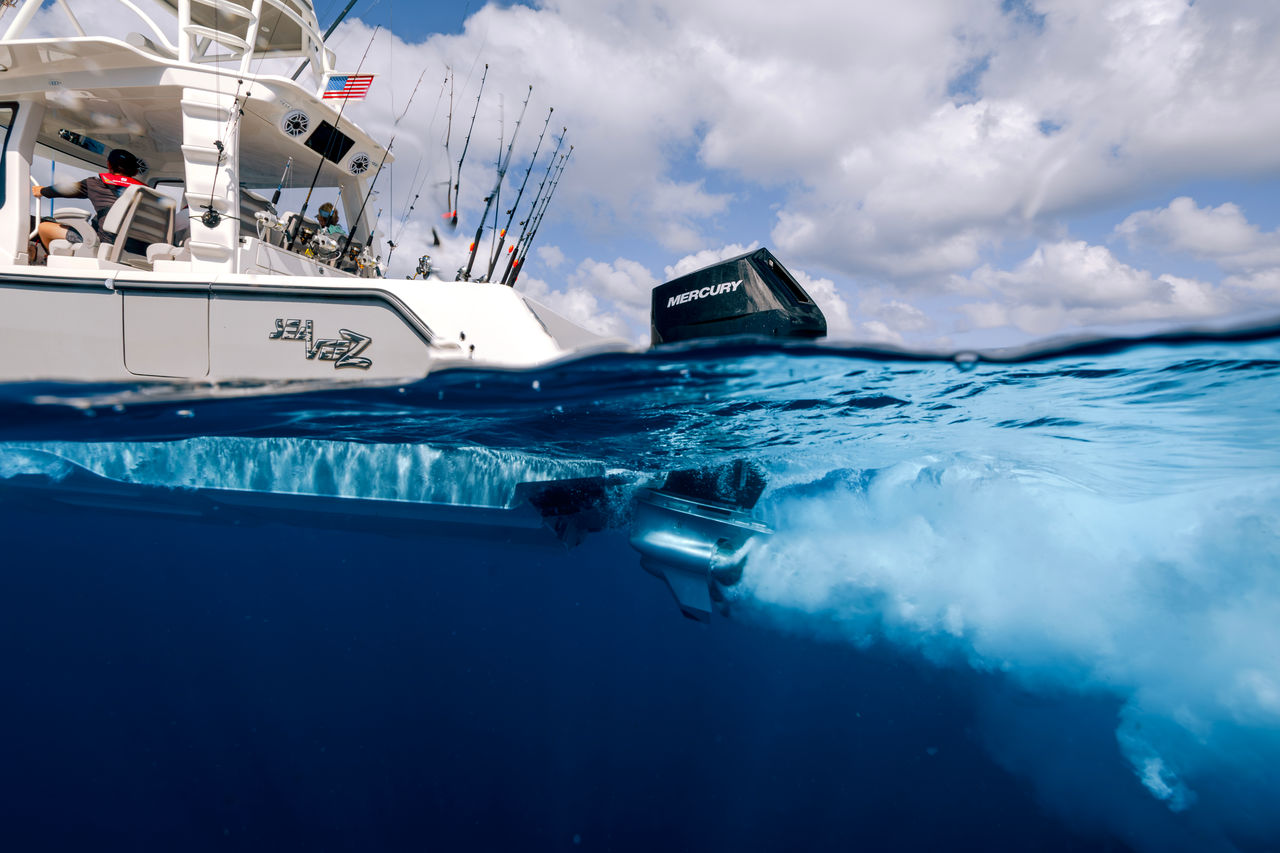
<svg viewBox="0 0 1280 853"><path fill-rule="evenodd" d="M0 382L393 382L598 348L502 284L155 273L0 273Z"/></svg>

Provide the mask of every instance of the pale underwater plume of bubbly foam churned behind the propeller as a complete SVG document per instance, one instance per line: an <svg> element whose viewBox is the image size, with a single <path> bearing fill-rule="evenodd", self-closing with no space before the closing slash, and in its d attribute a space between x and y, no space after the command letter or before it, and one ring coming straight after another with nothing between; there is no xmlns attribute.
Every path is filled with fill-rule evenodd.
<svg viewBox="0 0 1280 853"><path fill-rule="evenodd" d="M1280 802L1280 483L1266 469L1117 498L932 456L785 489L768 508L778 533L736 612L1032 689L1107 692L1120 751L1171 809L1220 783Z"/></svg>

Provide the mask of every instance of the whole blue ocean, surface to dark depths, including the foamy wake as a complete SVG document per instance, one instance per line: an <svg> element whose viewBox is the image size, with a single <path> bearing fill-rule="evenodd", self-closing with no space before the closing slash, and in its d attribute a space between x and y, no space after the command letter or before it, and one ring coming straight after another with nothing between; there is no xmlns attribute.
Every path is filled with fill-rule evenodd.
<svg viewBox="0 0 1280 853"><path fill-rule="evenodd" d="M1277 415L1266 329L0 388L0 845L1280 849Z"/></svg>

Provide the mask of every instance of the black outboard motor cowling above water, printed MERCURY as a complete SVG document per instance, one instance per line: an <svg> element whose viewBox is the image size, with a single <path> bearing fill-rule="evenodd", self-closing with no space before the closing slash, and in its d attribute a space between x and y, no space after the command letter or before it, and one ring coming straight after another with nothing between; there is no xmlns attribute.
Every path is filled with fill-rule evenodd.
<svg viewBox="0 0 1280 853"><path fill-rule="evenodd" d="M653 343L727 334L820 338L827 318L768 248L653 288Z"/></svg>

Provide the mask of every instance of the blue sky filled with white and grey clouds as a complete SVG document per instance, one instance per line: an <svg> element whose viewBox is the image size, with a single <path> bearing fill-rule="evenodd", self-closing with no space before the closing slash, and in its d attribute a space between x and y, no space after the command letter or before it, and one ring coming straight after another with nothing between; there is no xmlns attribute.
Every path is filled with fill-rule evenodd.
<svg viewBox="0 0 1280 853"><path fill-rule="evenodd" d="M765 246L833 338L924 350L1280 315L1276 44L1270 0L360 0L329 40L393 275L466 261L527 93L499 225L549 108L517 228L573 146L527 295L644 342L653 286Z"/></svg>

